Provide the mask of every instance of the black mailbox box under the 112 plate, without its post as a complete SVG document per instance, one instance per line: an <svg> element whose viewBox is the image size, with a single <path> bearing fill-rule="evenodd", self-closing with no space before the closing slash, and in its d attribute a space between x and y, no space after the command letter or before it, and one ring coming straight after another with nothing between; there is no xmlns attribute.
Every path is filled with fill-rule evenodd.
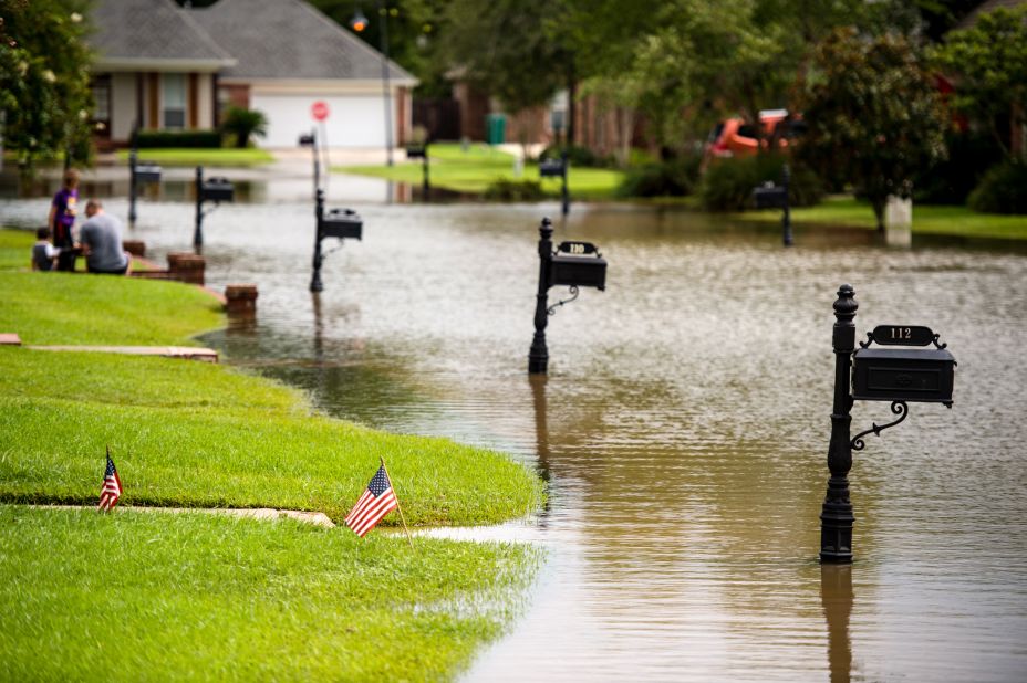
<svg viewBox="0 0 1027 683"><path fill-rule="evenodd" d="M852 398L951 406L955 364L943 348L861 348L852 356Z"/></svg>

